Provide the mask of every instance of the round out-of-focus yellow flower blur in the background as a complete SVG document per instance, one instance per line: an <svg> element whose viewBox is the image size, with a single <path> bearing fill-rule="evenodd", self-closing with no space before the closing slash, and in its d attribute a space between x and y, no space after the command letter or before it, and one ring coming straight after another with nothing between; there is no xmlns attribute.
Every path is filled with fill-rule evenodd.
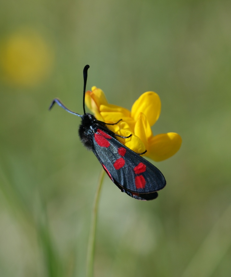
<svg viewBox="0 0 231 277"><path fill-rule="evenodd" d="M31 87L50 73L53 53L38 33L21 30L3 41L0 63L5 81L18 87Z"/></svg>

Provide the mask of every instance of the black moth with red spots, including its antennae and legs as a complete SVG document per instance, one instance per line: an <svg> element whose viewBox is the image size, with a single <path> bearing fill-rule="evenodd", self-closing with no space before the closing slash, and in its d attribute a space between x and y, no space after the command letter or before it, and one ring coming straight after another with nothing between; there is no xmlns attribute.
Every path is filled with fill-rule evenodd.
<svg viewBox="0 0 231 277"><path fill-rule="evenodd" d="M129 196L139 200L155 199L158 196L157 191L164 188L166 181L159 169L140 156L146 151L144 153L135 153L115 138L119 135L110 131L106 125L114 125L118 122L114 124L102 122L97 120L94 115L85 112L88 68L89 65L86 65L83 69L84 114L80 115L69 110L58 98L53 99L49 110L57 103L68 113L81 117L82 123L79 127L79 136L82 143L87 149L93 151L109 178L122 192L126 192ZM128 138L130 136L119 137Z"/></svg>

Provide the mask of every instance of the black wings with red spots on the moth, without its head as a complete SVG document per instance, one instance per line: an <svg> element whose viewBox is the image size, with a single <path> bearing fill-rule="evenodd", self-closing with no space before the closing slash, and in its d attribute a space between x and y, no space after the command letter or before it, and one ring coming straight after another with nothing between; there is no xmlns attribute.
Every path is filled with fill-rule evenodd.
<svg viewBox="0 0 231 277"><path fill-rule="evenodd" d="M93 145L94 154L122 192L136 199L152 200L165 187L159 169L101 129L94 133Z"/></svg>

